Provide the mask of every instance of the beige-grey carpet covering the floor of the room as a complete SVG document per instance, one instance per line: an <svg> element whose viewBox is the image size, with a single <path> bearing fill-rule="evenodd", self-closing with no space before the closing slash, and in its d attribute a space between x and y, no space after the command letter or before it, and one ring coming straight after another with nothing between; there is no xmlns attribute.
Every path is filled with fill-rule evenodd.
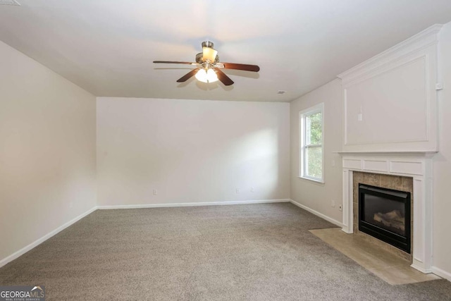
<svg viewBox="0 0 451 301"><path fill-rule="evenodd" d="M290 203L97 210L0 269L47 300L451 300L446 280L390 285L308 230Z"/></svg>

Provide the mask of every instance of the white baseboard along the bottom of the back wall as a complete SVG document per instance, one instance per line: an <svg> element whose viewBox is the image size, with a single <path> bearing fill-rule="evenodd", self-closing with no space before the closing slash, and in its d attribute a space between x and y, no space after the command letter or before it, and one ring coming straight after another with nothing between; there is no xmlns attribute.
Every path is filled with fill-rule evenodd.
<svg viewBox="0 0 451 301"><path fill-rule="evenodd" d="M161 208L161 207L221 206L221 205L238 205L238 204L285 203L290 201L291 199L259 199L249 201L225 201L225 202L105 205L105 206L97 206L97 209L138 209L138 208Z"/></svg>

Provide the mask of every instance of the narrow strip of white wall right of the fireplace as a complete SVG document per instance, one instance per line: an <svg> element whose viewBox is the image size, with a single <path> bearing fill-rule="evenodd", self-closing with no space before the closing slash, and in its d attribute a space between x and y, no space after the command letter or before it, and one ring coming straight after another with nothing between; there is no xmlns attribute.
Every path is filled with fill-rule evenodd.
<svg viewBox="0 0 451 301"><path fill-rule="evenodd" d="M451 280L451 23L440 31L439 153L434 156L433 266Z"/></svg>

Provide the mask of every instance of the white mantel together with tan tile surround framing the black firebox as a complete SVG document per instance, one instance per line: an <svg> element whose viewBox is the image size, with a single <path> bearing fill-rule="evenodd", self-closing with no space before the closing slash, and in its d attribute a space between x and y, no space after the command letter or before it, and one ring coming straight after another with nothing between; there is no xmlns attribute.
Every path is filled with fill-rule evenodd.
<svg viewBox="0 0 451 301"><path fill-rule="evenodd" d="M342 231L377 240L358 231L358 183L412 193L412 254L378 240L392 252L411 260L412 267L431 273L432 266L432 156L427 152L342 152ZM373 241L373 242L374 242Z"/></svg>

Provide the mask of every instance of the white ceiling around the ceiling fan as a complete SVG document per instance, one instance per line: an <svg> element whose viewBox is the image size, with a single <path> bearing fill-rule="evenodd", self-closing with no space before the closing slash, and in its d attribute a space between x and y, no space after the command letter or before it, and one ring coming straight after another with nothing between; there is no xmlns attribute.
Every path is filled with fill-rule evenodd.
<svg viewBox="0 0 451 301"><path fill-rule="evenodd" d="M289 102L435 23L450 0L18 0L0 6L0 40L108 97ZM175 82L201 42L235 84ZM278 90L286 90L283 95Z"/></svg>

